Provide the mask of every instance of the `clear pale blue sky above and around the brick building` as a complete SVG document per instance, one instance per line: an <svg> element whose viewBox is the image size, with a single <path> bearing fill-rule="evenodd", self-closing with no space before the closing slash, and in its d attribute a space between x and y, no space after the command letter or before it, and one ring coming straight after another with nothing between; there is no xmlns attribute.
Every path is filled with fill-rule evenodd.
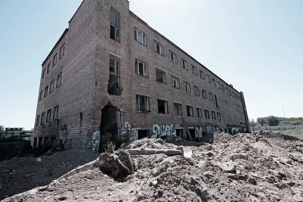
<svg viewBox="0 0 303 202"><path fill-rule="evenodd" d="M0 1L0 125L34 127L41 64L81 2ZM148 25L243 91L250 119L283 117L282 107L286 117L303 116L303 1L129 2Z"/></svg>

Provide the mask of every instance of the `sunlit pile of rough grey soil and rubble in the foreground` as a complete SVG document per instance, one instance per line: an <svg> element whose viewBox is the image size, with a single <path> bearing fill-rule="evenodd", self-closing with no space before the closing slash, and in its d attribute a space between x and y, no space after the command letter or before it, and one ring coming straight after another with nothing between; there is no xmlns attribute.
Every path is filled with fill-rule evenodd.
<svg viewBox="0 0 303 202"><path fill-rule="evenodd" d="M180 149L161 139L127 149ZM272 131L214 135L214 143L183 146L192 158L134 155L121 182L98 168L4 201L303 201L303 141Z"/></svg>

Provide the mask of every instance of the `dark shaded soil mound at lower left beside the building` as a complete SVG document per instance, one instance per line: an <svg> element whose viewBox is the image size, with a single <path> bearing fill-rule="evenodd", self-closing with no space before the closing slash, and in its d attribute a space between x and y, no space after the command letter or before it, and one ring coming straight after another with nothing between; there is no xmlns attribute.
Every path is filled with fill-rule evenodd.
<svg viewBox="0 0 303 202"><path fill-rule="evenodd" d="M17 157L2 161L0 162L0 200L37 186L47 185L70 170L95 160L98 156L99 154L93 151L65 150L50 156Z"/></svg>

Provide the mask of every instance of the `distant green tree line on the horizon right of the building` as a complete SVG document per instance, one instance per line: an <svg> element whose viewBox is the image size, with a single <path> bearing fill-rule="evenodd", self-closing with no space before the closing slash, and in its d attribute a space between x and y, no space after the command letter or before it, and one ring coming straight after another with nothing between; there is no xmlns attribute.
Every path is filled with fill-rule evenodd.
<svg viewBox="0 0 303 202"><path fill-rule="evenodd" d="M303 125L303 117L290 117L290 118L276 117L276 116L259 117L257 119L257 123L261 124L261 126ZM250 125L252 127L256 127L257 123L252 124L252 122L250 122Z"/></svg>

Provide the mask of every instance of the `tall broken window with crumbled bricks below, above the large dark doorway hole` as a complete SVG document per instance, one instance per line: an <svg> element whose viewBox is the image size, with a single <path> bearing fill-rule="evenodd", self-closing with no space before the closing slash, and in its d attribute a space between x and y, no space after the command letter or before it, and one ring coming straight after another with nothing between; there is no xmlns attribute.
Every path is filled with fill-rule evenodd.
<svg viewBox="0 0 303 202"><path fill-rule="evenodd" d="M111 55L108 93L111 95L120 95L120 92L120 60Z"/></svg>

